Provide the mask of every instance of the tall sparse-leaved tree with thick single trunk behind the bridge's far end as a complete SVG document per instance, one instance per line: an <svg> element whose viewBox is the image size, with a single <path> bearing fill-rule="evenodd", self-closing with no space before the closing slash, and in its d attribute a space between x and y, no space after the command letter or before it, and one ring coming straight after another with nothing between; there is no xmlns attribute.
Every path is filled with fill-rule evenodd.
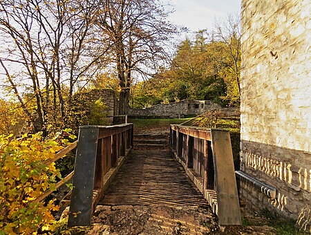
<svg viewBox="0 0 311 235"><path fill-rule="evenodd" d="M111 64L120 82L119 113L129 105L133 73L149 75L166 57L164 50L175 28L167 23L168 12L157 0L100 1L97 25L113 47Z"/></svg>

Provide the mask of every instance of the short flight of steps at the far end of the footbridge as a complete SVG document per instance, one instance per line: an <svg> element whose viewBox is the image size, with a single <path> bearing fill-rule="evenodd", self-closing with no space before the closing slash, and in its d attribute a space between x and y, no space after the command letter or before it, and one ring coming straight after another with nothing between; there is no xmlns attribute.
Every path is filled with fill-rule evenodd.
<svg viewBox="0 0 311 235"><path fill-rule="evenodd" d="M169 145L169 135L165 133L144 133L134 135L134 149L165 149Z"/></svg>

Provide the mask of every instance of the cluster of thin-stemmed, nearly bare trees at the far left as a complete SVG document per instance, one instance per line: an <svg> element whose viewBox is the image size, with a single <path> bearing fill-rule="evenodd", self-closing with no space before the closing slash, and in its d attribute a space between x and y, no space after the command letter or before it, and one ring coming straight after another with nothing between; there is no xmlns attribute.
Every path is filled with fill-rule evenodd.
<svg viewBox="0 0 311 235"><path fill-rule="evenodd" d="M73 94L101 68L97 14L92 0L0 2L0 66L34 131L70 123Z"/></svg>

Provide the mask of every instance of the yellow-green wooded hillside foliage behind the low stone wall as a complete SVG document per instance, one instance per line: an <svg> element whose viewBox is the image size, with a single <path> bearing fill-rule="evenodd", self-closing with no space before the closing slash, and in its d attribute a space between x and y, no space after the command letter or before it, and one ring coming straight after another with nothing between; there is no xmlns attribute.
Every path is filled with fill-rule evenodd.
<svg viewBox="0 0 311 235"><path fill-rule="evenodd" d="M226 27L229 30L225 32ZM231 17L216 32L200 30L194 39L177 46L169 68L133 88L133 107L185 99L213 100L225 106L239 104L241 41Z"/></svg>

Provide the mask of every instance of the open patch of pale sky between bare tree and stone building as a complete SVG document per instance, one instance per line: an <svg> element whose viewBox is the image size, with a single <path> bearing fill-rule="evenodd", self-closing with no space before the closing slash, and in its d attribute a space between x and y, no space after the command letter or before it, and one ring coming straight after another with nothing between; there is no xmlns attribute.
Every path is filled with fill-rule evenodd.
<svg viewBox="0 0 311 235"><path fill-rule="evenodd" d="M169 18L191 31L212 29L215 18L225 18L228 13L239 14L240 0L169 0L175 12Z"/></svg>

